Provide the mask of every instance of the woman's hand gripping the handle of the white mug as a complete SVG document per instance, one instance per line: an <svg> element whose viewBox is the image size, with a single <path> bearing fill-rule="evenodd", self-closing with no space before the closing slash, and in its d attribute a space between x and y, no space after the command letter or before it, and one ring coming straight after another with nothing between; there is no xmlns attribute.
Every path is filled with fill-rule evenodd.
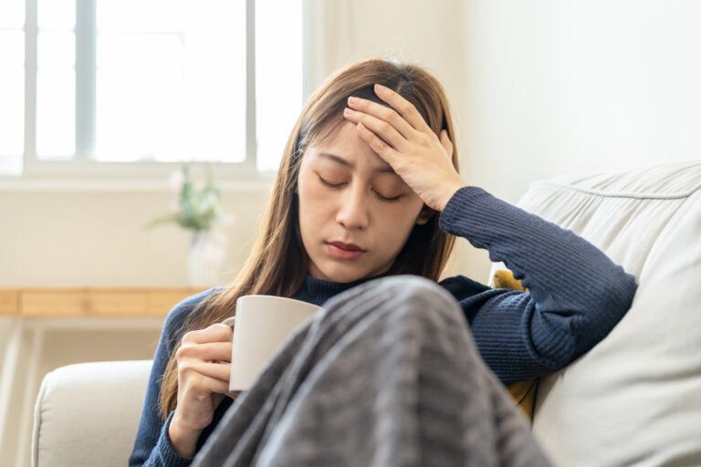
<svg viewBox="0 0 701 467"><path fill-rule="evenodd" d="M231 327L215 324L185 334L175 352L178 403L168 435L183 457L194 455L200 433L212 423L222 400L235 399L229 393L232 337Z"/></svg>

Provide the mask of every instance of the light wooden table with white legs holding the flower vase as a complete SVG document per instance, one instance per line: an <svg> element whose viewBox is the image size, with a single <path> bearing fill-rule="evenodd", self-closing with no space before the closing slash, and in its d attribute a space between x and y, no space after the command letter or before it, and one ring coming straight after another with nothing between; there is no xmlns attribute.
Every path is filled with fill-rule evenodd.
<svg viewBox="0 0 701 467"><path fill-rule="evenodd" d="M29 431L44 336L56 329L160 329L178 302L194 288L0 288L0 323L8 325L0 368L0 451L10 404L22 404L19 433ZM15 375L26 368L24 380ZM21 444L26 444L22 442Z"/></svg>

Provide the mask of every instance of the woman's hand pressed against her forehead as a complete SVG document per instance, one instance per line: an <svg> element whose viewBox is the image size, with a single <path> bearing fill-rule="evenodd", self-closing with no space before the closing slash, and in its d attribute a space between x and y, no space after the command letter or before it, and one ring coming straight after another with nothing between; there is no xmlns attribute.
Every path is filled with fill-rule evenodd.
<svg viewBox="0 0 701 467"><path fill-rule="evenodd" d="M422 201L443 211L453 194L466 186L453 167L453 143L447 131L441 130L439 140L413 104L392 89L376 84L375 94L392 109L351 97L351 109L345 109L343 116L356 124L361 138Z"/></svg>

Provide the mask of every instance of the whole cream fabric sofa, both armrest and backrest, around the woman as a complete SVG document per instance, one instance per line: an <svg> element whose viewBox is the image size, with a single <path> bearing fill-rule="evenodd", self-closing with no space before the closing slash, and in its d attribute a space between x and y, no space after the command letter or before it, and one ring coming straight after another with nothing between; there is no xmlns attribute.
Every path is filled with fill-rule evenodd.
<svg viewBox="0 0 701 467"><path fill-rule="evenodd" d="M568 467L701 465L701 161L536 182L518 204L580 233L640 285L609 337L541 380L533 430L545 451ZM150 367L49 373L32 464L124 465Z"/></svg>

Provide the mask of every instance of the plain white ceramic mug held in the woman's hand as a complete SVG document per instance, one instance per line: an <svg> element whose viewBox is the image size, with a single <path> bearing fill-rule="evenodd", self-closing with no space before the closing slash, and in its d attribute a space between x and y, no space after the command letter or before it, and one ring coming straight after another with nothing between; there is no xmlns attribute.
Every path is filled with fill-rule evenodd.
<svg viewBox="0 0 701 467"><path fill-rule="evenodd" d="M248 389L280 345L319 306L281 296L240 296L236 300L229 390Z"/></svg>

